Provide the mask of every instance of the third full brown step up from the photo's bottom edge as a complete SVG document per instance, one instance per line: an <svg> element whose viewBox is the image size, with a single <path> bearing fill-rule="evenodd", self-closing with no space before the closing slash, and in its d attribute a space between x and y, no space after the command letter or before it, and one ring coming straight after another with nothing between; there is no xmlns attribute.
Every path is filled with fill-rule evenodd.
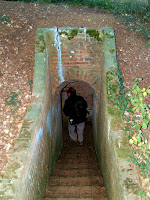
<svg viewBox="0 0 150 200"><path fill-rule="evenodd" d="M58 169L55 168L53 176L62 176L62 177L78 177L78 176L101 176L99 169Z"/></svg>

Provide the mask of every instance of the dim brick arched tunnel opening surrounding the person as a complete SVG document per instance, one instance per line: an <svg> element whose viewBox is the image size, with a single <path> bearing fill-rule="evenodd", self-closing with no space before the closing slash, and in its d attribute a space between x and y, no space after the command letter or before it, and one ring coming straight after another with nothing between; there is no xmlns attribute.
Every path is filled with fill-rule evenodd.
<svg viewBox="0 0 150 200"><path fill-rule="evenodd" d="M91 133L96 130L96 127L97 127L96 115L99 112L98 105L96 105L96 103L99 102L98 95L95 89L91 86L91 84L87 83L86 81L81 81L78 79L65 81L64 83L60 84L60 86L57 88L55 92L54 101L55 101L55 109L57 110L56 127L59 126L60 128L59 133L60 135L62 134L62 136L60 137L60 142L59 142L59 144L61 145L61 148L63 146L62 145L63 144L63 129L66 128L66 124L68 123L68 117L65 116L65 114L63 113L63 107L64 107L65 100L67 99L67 90L69 89L69 87L73 87L76 90L76 94L79 96L82 96L87 102L87 105L88 105L87 110L89 114L87 115L86 123L90 124L88 128L92 130ZM58 116L61 116L61 117L58 117ZM57 131L55 130L55 132ZM94 132L92 135L93 135L92 136L93 138L96 138L95 136L96 132Z"/></svg>

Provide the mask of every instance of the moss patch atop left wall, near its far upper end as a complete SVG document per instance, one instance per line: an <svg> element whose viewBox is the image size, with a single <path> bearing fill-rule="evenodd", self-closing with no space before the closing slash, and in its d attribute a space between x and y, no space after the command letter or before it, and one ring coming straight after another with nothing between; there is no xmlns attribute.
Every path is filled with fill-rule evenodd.
<svg viewBox="0 0 150 200"><path fill-rule="evenodd" d="M43 53L46 48L44 35L37 36L35 44L36 44L36 53Z"/></svg>

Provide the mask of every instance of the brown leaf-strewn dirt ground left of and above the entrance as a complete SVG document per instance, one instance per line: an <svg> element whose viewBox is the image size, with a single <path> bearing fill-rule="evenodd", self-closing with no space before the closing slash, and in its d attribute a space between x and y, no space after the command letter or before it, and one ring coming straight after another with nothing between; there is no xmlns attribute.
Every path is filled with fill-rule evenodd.
<svg viewBox="0 0 150 200"><path fill-rule="evenodd" d="M143 78L142 87L150 85L147 41L129 31L121 19L87 7L0 1L0 179L32 99L29 83L33 78L36 30L55 26L113 27L125 86L131 88L137 77ZM11 92L18 94L14 97L18 102ZM8 100L13 105L7 105Z"/></svg>

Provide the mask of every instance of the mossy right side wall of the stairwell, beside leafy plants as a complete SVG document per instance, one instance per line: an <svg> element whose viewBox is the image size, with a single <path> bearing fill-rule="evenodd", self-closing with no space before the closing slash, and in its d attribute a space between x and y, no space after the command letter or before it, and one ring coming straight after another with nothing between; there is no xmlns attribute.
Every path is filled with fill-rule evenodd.
<svg viewBox="0 0 150 200"><path fill-rule="evenodd" d="M131 149L124 136L124 123L120 108L108 99L111 82L119 98L115 35L113 30L105 30L103 51L104 68L101 74L100 102L93 129L95 148L110 200L140 200L142 191L136 167L130 159ZM95 110L96 110L95 109ZM95 122L96 121L96 122Z"/></svg>

